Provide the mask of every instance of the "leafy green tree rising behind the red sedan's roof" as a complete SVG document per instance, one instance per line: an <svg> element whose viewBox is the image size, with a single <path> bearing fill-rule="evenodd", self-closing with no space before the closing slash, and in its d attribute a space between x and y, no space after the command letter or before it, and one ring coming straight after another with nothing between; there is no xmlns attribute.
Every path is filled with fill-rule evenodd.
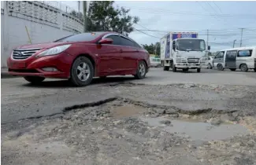
<svg viewBox="0 0 256 165"><path fill-rule="evenodd" d="M93 1L87 15L87 31L133 31L132 25L139 21L138 16L128 15L129 9L115 9L113 1Z"/></svg>

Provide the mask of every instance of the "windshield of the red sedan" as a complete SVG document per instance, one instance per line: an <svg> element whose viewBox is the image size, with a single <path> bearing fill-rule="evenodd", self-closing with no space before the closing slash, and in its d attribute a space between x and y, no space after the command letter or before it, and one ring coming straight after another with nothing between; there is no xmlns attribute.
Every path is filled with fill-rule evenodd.
<svg viewBox="0 0 256 165"><path fill-rule="evenodd" d="M64 38L60 38L54 42L87 42L93 41L98 36L102 35L103 32L91 32L91 33L80 33L78 35L69 35Z"/></svg>

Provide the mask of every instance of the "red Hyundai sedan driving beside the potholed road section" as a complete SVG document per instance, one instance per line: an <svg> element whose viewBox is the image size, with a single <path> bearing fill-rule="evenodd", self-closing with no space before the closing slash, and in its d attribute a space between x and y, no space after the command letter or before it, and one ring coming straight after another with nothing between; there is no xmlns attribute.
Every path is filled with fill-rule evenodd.
<svg viewBox="0 0 256 165"><path fill-rule="evenodd" d="M93 77L108 75L143 79L150 68L150 55L124 35L90 32L55 42L19 46L13 49L7 65L10 75L23 76L30 83L55 78L87 86Z"/></svg>

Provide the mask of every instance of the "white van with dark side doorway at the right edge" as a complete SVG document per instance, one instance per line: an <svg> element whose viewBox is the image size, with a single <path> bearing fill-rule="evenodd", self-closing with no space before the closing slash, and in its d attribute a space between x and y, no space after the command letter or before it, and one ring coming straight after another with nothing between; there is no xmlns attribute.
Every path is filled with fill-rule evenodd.
<svg viewBox="0 0 256 165"><path fill-rule="evenodd" d="M213 58L213 67L219 71L229 68L236 71L237 68L243 72L254 69L256 72L256 46L223 49Z"/></svg>

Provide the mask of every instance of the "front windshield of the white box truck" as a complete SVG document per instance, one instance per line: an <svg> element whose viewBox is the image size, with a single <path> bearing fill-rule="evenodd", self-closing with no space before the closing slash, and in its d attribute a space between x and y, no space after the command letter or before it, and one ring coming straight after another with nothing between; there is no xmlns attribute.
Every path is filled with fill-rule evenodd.
<svg viewBox="0 0 256 165"><path fill-rule="evenodd" d="M206 50L206 43L202 39L178 39L177 50L203 51Z"/></svg>

